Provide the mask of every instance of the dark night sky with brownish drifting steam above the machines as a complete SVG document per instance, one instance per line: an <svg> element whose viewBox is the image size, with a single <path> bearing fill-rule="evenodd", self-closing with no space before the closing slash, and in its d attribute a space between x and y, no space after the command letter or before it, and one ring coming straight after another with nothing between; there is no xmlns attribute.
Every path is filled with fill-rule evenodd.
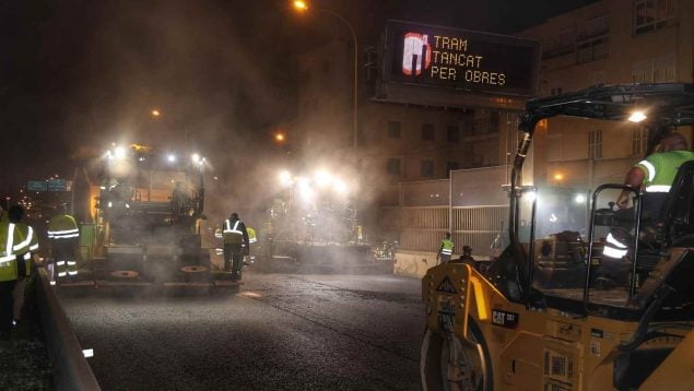
<svg viewBox="0 0 694 391"><path fill-rule="evenodd" d="M387 19L513 33L590 2L316 4L352 21L360 45L376 46ZM0 191L70 176L75 151L143 135L164 134L167 147L188 145L217 159L249 143L270 145L267 129L296 112L295 55L346 34L334 24L299 17L279 0L5 0ZM162 110L158 119L150 116L153 108Z"/></svg>

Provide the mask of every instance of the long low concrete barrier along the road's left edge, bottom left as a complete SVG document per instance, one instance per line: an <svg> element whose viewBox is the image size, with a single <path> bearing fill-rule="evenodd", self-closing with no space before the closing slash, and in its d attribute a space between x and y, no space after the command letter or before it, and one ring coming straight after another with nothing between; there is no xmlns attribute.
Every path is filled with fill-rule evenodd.
<svg viewBox="0 0 694 391"><path fill-rule="evenodd" d="M36 284L40 323L54 368L56 390L101 390L70 321L49 284L45 268L37 268Z"/></svg>

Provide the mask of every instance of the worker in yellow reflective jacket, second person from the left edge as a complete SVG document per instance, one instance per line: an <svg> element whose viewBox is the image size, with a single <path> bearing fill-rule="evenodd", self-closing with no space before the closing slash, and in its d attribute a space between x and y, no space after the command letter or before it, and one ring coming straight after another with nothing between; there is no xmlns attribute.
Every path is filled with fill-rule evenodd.
<svg viewBox="0 0 694 391"><path fill-rule="evenodd" d="M32 273L32 260L34 254L38 252L38 236L34 229L25 223L22 223L24 210L20 205L12 205L8 211L10 222L13 223L23 236L22 242L16 245L14 251L16 256L17 280L14 286L14 322L22 319L22 308L24 307L24 288L26 280ZM15 240L16 241L16 240Z"/></svg>

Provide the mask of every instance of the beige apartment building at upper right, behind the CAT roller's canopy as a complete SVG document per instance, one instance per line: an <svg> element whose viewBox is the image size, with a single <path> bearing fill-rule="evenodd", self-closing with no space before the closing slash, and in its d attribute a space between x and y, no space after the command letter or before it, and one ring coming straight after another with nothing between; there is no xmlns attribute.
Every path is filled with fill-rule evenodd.
<svg viewBox="0 0 694 391"><path fill-rule="evenodd" d="M540 96L694 78L694 0L603 0L518 35L542 42ZM648 130L554 118L537 139L536 183L595 189L623 180L646 154Z"/></svg>

